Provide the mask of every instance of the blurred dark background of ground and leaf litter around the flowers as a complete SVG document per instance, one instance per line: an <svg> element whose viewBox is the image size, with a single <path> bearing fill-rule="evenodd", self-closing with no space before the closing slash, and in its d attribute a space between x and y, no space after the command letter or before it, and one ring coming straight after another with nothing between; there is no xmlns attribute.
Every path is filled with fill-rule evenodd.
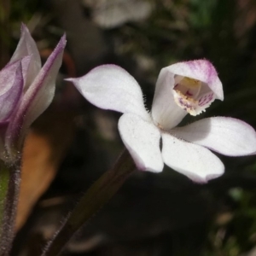
<svg viewBox="0 0 256 256"><path fill-rule="evenodd" d="M61 35L67 49L55 100L27 137L13 256L39 255L91 183L123 145L119 113L86 102L67 77L103 63L131 73L151 108L160 69L206 58L224 84L208 116L256 127L254 0L0 0L0 65L15 50L20 22L45 60ZM184 122L191 122L188 117ZM256 255L256 159L228 158L223 177L196 184L170 168L137 172L79 230L63 255Z"/></svg>

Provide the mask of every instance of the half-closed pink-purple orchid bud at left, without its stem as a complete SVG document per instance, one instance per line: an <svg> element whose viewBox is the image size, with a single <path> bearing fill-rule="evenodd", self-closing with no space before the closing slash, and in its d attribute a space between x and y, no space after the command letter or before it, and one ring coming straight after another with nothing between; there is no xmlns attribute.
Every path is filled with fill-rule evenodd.
<svg viewBox="0 0 256 256"><path fill-rule="evenodd" d="M0 158L18 157L26 131L49 107L61 67L65 35L42 67L37 45L25 25L9 63L0 71Z"/></svg>

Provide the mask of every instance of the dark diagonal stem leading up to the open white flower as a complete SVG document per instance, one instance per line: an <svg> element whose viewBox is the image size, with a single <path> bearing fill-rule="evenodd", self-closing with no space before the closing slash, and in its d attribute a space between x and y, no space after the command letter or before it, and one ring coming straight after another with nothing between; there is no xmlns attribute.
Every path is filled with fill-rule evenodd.
<svg viewBox="0 0 256 256"><path fill-rule="evenodd" d="M53 240L49 241L42 256L60 255L67 241L72 238L74 233L79 230L82 225L88 223L90 218L115 195L126 178L135 170L136 166L130 154L125 149L113 168L105 172L102 177L87 190L73 212L67 216L66 221L55 234Z"/></svg>

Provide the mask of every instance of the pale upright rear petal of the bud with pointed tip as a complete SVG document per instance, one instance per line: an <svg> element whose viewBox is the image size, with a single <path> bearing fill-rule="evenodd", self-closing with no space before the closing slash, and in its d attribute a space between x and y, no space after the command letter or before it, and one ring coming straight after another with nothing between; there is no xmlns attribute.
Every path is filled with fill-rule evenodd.
<svg viewBox="0 0 256 256"><path fill-rule="evenodd" d="M29 67L27 68L27 72L26 72L26 80L24 81L26 83L25 87L27 87L29 84L32 84L32 81L38 75L42 67L42 64L41 64L41 58L38 52L37 44L32 38L27 27L24 24L22 24L20 41L17 48L15 49L14 55L9 61L9 64L15 61L19 61L20 59L24 58L27 55L31 56L31 61L29 62Z"/></svg>

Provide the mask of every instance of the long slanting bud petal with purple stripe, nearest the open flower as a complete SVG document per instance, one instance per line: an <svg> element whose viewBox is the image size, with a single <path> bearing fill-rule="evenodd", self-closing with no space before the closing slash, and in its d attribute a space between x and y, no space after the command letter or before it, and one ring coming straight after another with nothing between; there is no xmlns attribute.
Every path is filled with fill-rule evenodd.
<svg viewBox="0 0 256 256"><path fill-rule="evenodd" d="M44 67L38 76L26 90L20 107L15 116L10 120L10 125L6 134L6 147L11 152L11 148L20 148L25 132L29 125L49 107L55 94L55 79L61 67L62 55L66 46L66 37L63 36L57 44L55 50L49 55Z"/></svg>

